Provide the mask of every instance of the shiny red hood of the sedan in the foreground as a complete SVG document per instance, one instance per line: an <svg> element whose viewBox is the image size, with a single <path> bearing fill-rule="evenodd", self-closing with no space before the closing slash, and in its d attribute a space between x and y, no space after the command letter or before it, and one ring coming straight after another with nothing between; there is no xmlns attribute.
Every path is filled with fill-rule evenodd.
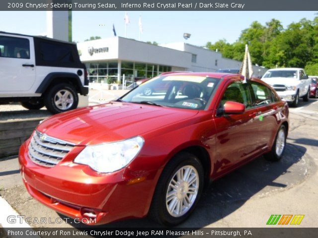
<svg viewBox="0 0 318 238"><path fill-rule="evenodd" d="M110 102L45 119L37 130L76 145L119 141L185 120L197 110Z"/></svg>

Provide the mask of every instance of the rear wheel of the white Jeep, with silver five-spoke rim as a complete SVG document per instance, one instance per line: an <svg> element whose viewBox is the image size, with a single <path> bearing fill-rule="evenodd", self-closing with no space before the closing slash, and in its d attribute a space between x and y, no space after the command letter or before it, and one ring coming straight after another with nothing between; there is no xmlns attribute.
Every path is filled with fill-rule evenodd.
<svg viewBox="0 0 318 238"><path fill-rule="evenodd" d="M72 85L61 83L47 91L44 102L51 113L63 113L78 107L79 96Z"/></svg>

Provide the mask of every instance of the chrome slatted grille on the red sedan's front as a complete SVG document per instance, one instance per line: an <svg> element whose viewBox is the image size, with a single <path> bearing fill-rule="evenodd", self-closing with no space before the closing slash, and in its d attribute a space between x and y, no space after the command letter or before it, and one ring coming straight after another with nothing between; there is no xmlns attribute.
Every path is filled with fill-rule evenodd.
<svg viewBox="0 0 318 238"><path fill-rule="evenodd" d="M39 165L53 167L73 149L75 144L36 131L29 144L29 157Z"/></svg>

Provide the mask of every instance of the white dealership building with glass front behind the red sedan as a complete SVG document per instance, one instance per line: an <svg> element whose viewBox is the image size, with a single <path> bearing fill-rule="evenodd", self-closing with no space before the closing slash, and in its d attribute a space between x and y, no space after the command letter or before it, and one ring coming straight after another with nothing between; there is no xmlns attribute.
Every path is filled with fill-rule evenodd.
<svg viewBox="0 0 318 238"><path fill-rule="evenodd" d="M123 37L111 37L78 43L80 60L86 64L91 82L121 84L150 78L166 71L206 71L239 69L241 61L222 57L221 53L183 42L153 45ZM264 67L253 65L254 76ZM125 76L124 76L125 75ZM110 80L111 79L111 80Z"/></svg>

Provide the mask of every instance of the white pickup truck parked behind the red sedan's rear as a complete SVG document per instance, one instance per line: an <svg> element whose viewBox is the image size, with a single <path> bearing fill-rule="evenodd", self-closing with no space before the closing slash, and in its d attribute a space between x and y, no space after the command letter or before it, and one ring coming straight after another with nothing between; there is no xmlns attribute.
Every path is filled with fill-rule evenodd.
<svg viewBox="0 0 318 238"><path fill-rule="evenodd" d="M302 68L269 69L261 79L293 107L297 107L300 97L305 102L309 99L311 79Z"/></svg>

